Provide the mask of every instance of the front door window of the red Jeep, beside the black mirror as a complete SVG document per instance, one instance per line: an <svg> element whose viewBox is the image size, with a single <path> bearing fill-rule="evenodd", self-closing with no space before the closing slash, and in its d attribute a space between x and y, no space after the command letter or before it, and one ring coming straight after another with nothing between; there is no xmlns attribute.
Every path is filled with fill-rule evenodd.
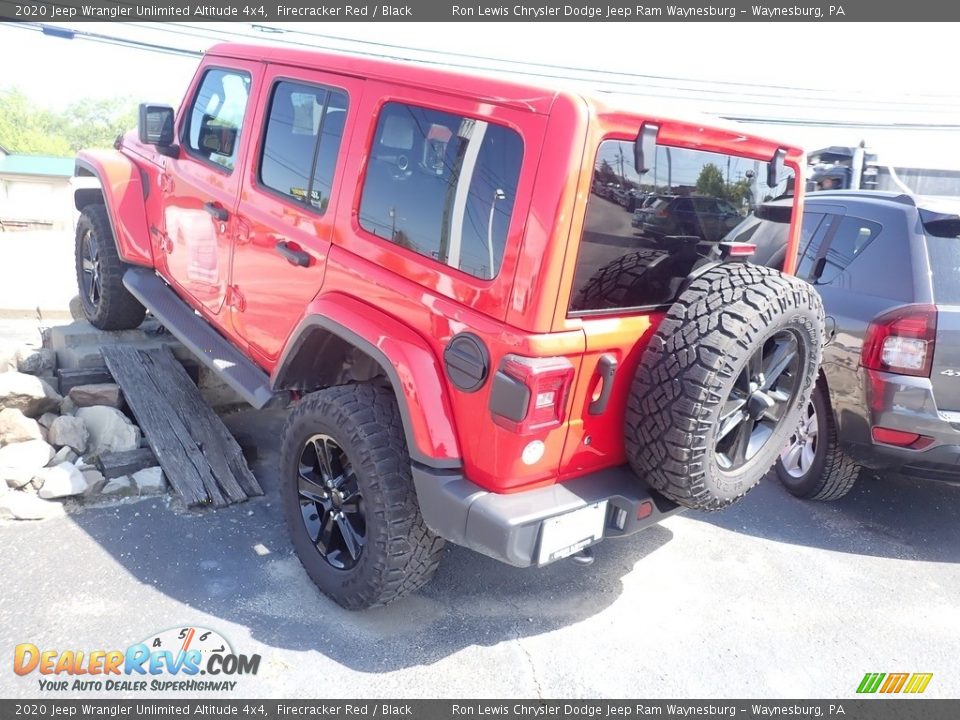
<svg viewBox="0 0 960 720"><path fill-rule="evenodd" d="M232 172L237 165L237 148L249 96L247 73L207 70L190 108L187 125L190 152Z"/></svg>

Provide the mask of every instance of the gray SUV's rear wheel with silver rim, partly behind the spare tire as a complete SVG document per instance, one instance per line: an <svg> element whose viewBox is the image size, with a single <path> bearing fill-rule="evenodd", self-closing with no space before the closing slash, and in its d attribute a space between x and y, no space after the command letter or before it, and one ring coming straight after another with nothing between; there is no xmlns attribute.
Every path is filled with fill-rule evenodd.
<svg viewBox="0 0 960 720"><path fill-rule="evenodd" d="M839 500L853 489L860 466L837 445L827 389L817 383L800 425L777 460L777 477L805 500Z"/></svg>

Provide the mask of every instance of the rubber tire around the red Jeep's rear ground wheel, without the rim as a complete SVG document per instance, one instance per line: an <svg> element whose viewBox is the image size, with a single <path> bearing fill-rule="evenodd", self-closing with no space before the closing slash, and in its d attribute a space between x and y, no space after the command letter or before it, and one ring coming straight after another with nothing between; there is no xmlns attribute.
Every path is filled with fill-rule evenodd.
<svg viewBox="0 0 960 720"><path fill-rule="evenodd" d="M364 500L366 544L357 564L334 568L311 541L301 515L298 464L314 434L334 438L354 468ZM420 515L400 410L392 390L340 385L303 397L287 419L281 450L284 516L300 562L322 592L350 610L384 605L422 587L444 541Z"/></svg>

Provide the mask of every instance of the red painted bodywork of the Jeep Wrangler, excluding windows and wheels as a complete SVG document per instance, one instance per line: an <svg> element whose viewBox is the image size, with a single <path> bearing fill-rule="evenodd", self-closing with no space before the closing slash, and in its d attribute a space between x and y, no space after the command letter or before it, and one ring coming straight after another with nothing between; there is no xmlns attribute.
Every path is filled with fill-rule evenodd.
<svg viewBox="0 0 960 720"><path fill-rule="evenodd" d="M216 258L216 269L229 268L229 274L218 274L215 282L211 274L205 294L203 283L191 282L187 270L178 265L179 241L174 241L169 256L158 257L157 269L270 373L278 370L283 350L295 347L296 328L310 315L360 335L389 358L400 378L396 390L405 400L408 430L420 456L444 462L459 459L467 478L496 492L571 479L625 459L623 422L629 387L663 313L567 316L600 142L632 140L643 122L652 121L660 125L661 144L763 161L781 147L737 129L651 114L643 105L627 111L623 108L629 105L613 105L608 99L367 58L219 45L204 56L194 87L210 66L242 68L253 80L241 133L241 164L229 180L183 150L176 159L163 158L128 136L125 151L144 166L149 178L160 182L161 168L173 176L175 189L163 207L158 210L148 203L150 223L169 229L173 223L164 218L171 210L200 218L197 213L211 197L229 205L228 227L218 229L213 241L208 238L215 247L211 257ZM349 98L331 199L323 214L297 206L258 182L265 113L271 87L279 78L336 87ZM189 110L192 97L193 88L183 108ZM487 120L521 136L522 169L496 277L460 272L360 226L363 178L378 113L388 102ZM187 110L182 109L177 119L181 130ZM802 152L786 149L798 189L786 263L792 271L802 211ZM139 189L134 182L139 183L139 177L134 177L137 173L129 160L123 163L125 171L122 164L105 171L109 202L130 205L129 212L142 215L142 195L136 194L135 202L127 199ZM147 223L134 225L131 220L121 233L124 257L141 263L146 259L149 264ZM196 245L208 226L208 218L198 219L185 246ZM306 252L306 266L291 265L278 255L279 240ZM221 310L224 304L228 311ZM449 381L442 358L451 338L465 331L483 340L491 374L507 354L568 359L575 376L561 424L519 436L493 422L492 382L473 393L458 390ZM618 362L614 392L606 411L592 416L587 407L598 392L597 368L604 354ZM521 455L534 440L543 442L543 455L526 464Z"/></svg>

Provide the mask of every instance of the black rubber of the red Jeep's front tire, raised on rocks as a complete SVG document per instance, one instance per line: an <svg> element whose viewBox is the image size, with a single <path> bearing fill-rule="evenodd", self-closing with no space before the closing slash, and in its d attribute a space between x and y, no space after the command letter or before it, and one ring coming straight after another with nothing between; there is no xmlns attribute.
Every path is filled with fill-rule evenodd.
<svg viewBox="0 0 960 720"><path fill-rule="evenodd" d="M95 302L84 291L83 242L88 232L96 239L99 253L100 292ZM93 204L83 208L77 222L74 246L80 305L90 324L101 330L130 330L139 327L147 311L123 284L123 274L127 266L117 253L117 244L105 206Z"/></svg>

